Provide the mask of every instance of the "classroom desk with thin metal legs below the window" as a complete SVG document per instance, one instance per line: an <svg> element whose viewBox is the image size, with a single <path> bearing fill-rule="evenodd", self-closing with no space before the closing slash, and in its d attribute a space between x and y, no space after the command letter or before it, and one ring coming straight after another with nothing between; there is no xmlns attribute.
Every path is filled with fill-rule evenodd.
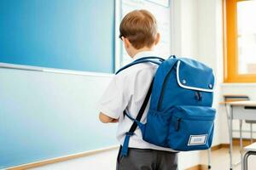
<svg viewBox="0 0 256 170"><path fill-rule="evenodd" d="M239 120L239 133L240 133L240 154L241 154L241 169L242 165L242 136L241 136L241 126L242 120L256 121L256 101L227 101L221 104L226 105L227 109L227 120L230 134L230 170L233 169L232 164L232 150L233 150L233 119Z"/></svg>

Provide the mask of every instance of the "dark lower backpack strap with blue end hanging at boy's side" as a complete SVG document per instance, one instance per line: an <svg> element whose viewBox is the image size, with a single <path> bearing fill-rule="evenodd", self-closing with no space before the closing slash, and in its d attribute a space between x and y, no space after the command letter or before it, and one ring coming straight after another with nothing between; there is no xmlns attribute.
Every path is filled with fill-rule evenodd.
<svg viewBox="0 0 256 170"><path fill-rule="evenodd" d="M154 78L150 84L150 87L148 88L148 93L143 101L143 105L140 109L140 111L137 114L136 119L133 119L129 114L126 113L126 111L124 111L124 115L128 116L132 121L134 121L131 125L131 128L129 130L129 132L125 133L125 141L124 144L122 146L122 150L121 150L121 156L127 156L128 154L128 145L129 145L129 139L130 137L134 134L135 130L137 129L137 126L139 126L142 130L142 133L144 131L144 126L143 123L141 123L141 119L143 117L143 113L148 105L148 100L150 99L150 95L152 92L152 88L153 88L153 83L154 83Z"/></svg>

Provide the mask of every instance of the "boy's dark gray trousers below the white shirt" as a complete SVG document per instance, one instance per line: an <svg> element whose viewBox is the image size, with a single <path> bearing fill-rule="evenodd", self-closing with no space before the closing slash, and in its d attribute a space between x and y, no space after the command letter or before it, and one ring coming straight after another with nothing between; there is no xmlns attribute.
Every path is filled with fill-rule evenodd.
<svg viewBox="0 0 256 170"><path fill-rule="evenodd" d="M127 156L117 157L116 170L177 170L177 153L129 148Z"/></svg>

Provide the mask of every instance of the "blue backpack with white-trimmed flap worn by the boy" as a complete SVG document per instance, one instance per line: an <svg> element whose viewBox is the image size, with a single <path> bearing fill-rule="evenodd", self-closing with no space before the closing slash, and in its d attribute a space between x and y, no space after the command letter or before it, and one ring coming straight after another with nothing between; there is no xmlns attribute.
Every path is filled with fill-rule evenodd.
<svg viewBox="0 0 256 170"><path fill-rule="evenodd" d="M128 153L129 139L137 126L143 140L177 151L207 150L212 145L215 110L212 108L212 69L194 59L144 57L121 68L151 62L159 65L148 94L129 132L121 155ZM118 74L119 71L116 73ZM140 122L151 95L147 122Z"/></svg>

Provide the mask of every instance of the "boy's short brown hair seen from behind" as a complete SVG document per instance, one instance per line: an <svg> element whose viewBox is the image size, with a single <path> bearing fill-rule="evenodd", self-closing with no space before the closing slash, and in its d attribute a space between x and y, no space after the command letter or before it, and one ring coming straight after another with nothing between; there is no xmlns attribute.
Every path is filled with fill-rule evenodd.
<svg viewBox="0 0 256 170"><path fill-rule="evenodd" d="M125 15L119 31L119 37L128 38L134 48L150 48L156 39L157 23L147 10L134 10Z"/></svg>

